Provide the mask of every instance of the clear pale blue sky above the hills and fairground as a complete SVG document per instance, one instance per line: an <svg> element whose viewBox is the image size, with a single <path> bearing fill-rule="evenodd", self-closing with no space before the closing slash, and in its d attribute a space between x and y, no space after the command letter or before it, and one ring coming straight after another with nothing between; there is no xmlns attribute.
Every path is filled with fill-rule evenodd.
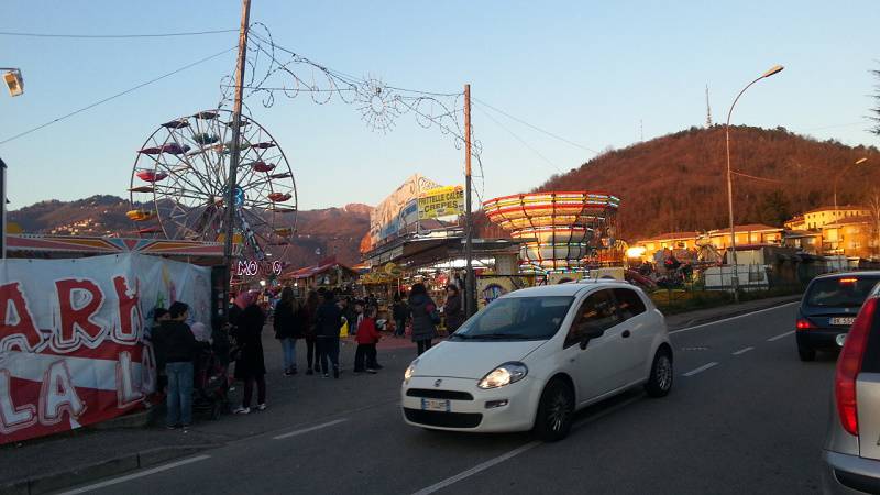
<svg viewBox="0 0 880 495"><path fill-rule="evenodd" d="M241 15L241 4L226 0L6 0L2 10L0 32L92 35L235 30ZM736 94L776 64L785 69L748 90L733 123L782 125L850 145L880 141L866 120L878 82L869 70L880 68L876 0L253 0L251 21L264 23L278 45L359 78L443 94L470 84L483 199L528 190L608 147L704 125L706 85L712 117L723 122ZM237 43L234 32L0 35L0 67L21 67L25 89L16 98L0 94L0 142ZM230 50L0 144L10 207L128 197L144 141L163 122L215 108L221 78L234 66ZM266 81L284 84L277 75ZM464 153L411 113L383 133L339 98L317 105L308 95L278 95L270 108L257 97L245 103L290 162L300 209L376 205L415 173L463 183Z"/></svg>

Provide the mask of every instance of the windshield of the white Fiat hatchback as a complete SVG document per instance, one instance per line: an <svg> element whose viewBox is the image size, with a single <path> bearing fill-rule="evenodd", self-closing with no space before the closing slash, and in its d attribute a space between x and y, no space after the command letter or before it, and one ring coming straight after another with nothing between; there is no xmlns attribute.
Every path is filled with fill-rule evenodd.
<svg viewBox="0 0 880 495"><path fill-rule="evenodd" d="M568 296L507 297L492 301L453 334L455 340L547 340L574 300Z"/></svg>

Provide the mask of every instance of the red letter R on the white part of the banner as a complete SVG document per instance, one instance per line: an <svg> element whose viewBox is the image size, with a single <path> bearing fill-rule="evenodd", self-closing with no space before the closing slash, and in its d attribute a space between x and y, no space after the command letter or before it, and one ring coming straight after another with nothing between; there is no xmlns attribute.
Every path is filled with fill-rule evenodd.
<svg viewBox="0 0 880 495"><path fill-rule="evenodd" d="M89 342L97 342L103 332L100 324L91 320L91 317L100 311L103 305L103 293L98 284L88 279L66 279L55 282L58 290L58 304L61 309L61 332L56 334L58 344L62 348L78 346L81 343L80 337ZM74 301L74 297L88 299Z"/></svg>

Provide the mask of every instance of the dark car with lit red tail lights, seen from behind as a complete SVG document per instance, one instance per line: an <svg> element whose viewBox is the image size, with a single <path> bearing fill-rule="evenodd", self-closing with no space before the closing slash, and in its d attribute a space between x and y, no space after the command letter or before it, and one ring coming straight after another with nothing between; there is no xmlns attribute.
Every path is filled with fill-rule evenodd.
<svg viewBox="0 0 880 495"><path fill-rule="evenodd" d="M798 354L816 359L816 350L837 350L861 304L880 283L880 272L821 275L806 287L798 311Z"/></svg>

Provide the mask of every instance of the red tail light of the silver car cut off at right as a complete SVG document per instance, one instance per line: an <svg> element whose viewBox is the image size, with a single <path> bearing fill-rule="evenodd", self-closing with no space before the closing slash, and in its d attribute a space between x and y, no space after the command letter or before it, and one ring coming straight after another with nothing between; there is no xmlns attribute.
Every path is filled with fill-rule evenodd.
<svg viewBox="0 0 880 495"><path fill-rule="evenodd" d="M856 378L861 371L861 359L868 344L868 333L873 324L877 300L876 297L869 298L861 307L846 337L834 375L834 395L837 399L837 415L840 417L840 425L855 436L859 435Z"/></svg>

